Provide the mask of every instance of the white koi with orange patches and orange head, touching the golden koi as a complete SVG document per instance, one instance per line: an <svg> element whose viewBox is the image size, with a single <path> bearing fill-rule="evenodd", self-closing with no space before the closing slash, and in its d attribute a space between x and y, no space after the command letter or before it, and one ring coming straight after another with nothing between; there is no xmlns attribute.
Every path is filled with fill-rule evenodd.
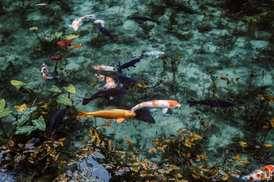
<svg viewBox="0 0 274 182"><path fill-rule="evenodd" d="M158 108L162 109L162 114L165 114L168 110L168 108L173 107L181 107L181 104L177 103L174 100L152 100L147 102L142 102L138 104L137 106L133 107L131 109L131 113L134 113L135 110L141 109L141 108L150 108L149 110L155 111Z"/></svg>

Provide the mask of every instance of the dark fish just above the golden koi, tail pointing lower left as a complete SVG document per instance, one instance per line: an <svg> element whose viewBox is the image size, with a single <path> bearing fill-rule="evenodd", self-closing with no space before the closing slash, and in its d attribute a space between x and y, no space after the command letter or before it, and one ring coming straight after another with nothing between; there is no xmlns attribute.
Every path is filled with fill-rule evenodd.
<svg viewBox="0 0 274 182"><path fill-rule="evenodd" d="M119 88L110 88L110 89L104 89L93 96L91 96L89 99L83 99L82 106L86 106L90 101L96 99L96 98L101 98L101 97L111 97L111 96L118 96L122 94L127 94L128 91L125 89L119 89Z"/></svg>

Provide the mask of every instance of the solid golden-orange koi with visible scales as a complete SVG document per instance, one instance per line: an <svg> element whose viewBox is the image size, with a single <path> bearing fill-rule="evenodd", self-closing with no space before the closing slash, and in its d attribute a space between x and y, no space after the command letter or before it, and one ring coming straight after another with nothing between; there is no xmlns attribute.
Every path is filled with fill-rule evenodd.
<svg viewBox="0 0 274 182"><path fill-rule="evenodd" d="M108 109L108 110L100 110L100 111L94 111L90 113L86 113L83 111L77 110L78 114L77 117L100 117L100 118L105 118L107 120L113 120L117 119L118 123L123 122L124 119L127 118L132 118L136 114L135 113L130 113L129 110L123 110L123 109Z"/></svg>

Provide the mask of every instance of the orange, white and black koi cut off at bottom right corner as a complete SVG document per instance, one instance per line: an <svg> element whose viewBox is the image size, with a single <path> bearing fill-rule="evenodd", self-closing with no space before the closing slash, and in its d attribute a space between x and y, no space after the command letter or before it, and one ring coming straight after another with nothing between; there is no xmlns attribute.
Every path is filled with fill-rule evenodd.
<svg viewBox="0 0 274 182"><path fill-rule="evenodd" d="M265 167L263 167L263 170L268 171L269 174L273 174L274 166L273 165L265 166ZM234 177L236 177L240 180L243 180L244 182L248 182L248 181L259 182L259 181L262 181L262 172L263 172L262 170L258 169L248 175L236 175ZM269 176L269 174L268 174L268 176Z"/></svg>

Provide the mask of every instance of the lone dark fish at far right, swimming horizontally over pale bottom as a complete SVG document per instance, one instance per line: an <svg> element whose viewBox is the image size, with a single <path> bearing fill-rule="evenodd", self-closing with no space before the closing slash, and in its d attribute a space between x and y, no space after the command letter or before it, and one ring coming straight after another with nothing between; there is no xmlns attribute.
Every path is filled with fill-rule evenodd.
<svg viewBox="0 0 274 182"><path fill-rule="evenodd" d="M187 100L187 103L189 103L189 106L193 106L194 104L207 105L207 106L211 106L211 107L236 106L236 104L234 102L231 102L228 100L199 100L199 101Z"/></svg>

